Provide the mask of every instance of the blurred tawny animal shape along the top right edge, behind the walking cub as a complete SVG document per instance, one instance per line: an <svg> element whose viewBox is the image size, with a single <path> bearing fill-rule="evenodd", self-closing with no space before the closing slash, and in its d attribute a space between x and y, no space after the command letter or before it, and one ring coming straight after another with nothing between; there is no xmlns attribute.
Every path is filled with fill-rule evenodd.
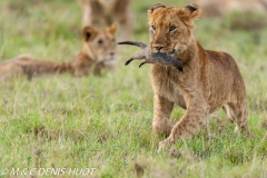
<svg viewBox="0 0 267 178"><path fill-rule="evenodd" d="M221 16L231 11L267 12L266 0L196 0L202 9L201 16Z"/></svg>

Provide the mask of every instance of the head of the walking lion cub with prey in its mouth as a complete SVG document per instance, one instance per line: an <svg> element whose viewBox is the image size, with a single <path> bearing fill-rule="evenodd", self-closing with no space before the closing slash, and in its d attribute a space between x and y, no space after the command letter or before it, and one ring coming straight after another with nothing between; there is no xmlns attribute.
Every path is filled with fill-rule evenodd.
<svg viewBox="0 0 267 178"><path fill-rule="evenodd" d="M155 4L148 10L150 49L154 52L182 52L194 39L194 20L200 9L191 3L185 8Z"/></svg>

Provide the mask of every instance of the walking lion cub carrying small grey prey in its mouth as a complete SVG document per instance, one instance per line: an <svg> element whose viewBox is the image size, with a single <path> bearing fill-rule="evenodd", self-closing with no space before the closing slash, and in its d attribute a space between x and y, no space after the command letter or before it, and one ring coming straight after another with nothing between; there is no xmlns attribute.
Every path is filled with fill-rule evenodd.
<svg viewBox="0 0 267 178"><path fill-rule="evenodd" d="M148 10L150 49L170 52L180 59L182 71L172 66L154 63L150 71L154 97L152 129L167 139L159 150L185 136L191 136L224 108L236 123L236 131L248 131L246 88L236 61L226 52L205 50L192 34L194 20L200 9L157 3ZM169 121L174 105L185 109L175 125Z"/></svg>

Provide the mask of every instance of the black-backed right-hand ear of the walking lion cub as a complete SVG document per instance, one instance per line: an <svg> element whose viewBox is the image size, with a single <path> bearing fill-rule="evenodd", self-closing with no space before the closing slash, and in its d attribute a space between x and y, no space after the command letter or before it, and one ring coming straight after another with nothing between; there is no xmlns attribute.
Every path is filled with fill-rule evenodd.
<svg viewBox="0 0 267 178"><path fill-rule="evenodd" d="M178 11L180 19L189 27L194 27L194 20L200 17L201 10L196 3L190 3Z"/></svg>

